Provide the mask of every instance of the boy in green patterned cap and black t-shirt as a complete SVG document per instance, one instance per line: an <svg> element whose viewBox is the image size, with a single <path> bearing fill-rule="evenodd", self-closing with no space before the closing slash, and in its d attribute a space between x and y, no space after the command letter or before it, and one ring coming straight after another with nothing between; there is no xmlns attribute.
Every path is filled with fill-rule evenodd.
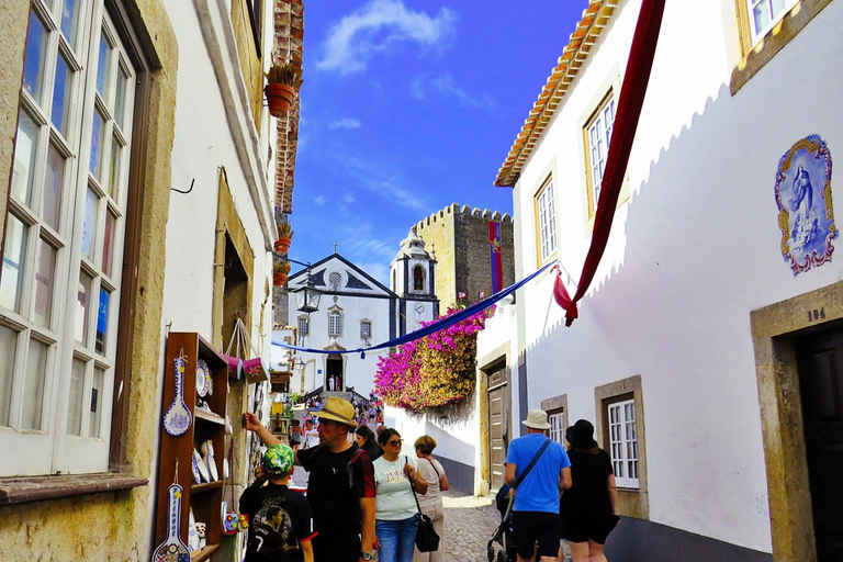
<svg viewBox="0 0 843 562"><path fill-rule="evenodd" d="M269 447L255 468L255 482L240 496L240 513L249 516L246 562L313 562L311 505L286 487L294 458L285 445Z"/></svg>

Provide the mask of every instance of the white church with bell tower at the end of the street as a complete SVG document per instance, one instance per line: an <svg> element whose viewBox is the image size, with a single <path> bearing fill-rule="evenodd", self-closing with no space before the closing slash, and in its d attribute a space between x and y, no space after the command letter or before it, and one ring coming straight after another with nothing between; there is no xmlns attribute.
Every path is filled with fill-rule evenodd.
<svg viewBox="0 0 843 562"><path fill-rule="evenodd" d="M402 251L408 247L406 241L402 243ZM425 260L424 256L414 254L414 265L424 267L423 290L411 289L401 295L336 252L317 261L310 270L290 276L288 325L295 328L295 345L337 351L366 350L405 334L408 323L417 326L418 322L434 319L439 302L432 294L434 285L428 276L435 274L435 263L429 256ZM322 291L319 310L311 314L296 310L294 296L296 289L307 283L308 274L316 289ZM372 390L378 357L384 352L297 352L290 392L319 391L329 395L353 389L367 396Z"/></svg>

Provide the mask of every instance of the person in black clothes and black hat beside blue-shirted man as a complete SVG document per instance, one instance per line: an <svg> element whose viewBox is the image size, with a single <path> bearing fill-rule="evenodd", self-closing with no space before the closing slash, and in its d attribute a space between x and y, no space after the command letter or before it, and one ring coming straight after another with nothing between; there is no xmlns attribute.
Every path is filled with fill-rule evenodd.
<svg viewBox="0 0 843 562"><path fill-rule="evenodd" d="M594 426L580 419L565 431L573 486L560 502L562 538L574 562L606 562L603 547L620 522L615 515L618 488L609 453L597 447Z"/></svg>

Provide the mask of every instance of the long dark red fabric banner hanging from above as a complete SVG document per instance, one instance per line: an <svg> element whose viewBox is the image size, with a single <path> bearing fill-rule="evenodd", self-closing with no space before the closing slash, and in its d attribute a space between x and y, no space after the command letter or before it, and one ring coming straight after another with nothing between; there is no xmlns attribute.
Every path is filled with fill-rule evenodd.
<svg viewBox="0 0 843 562"><path fill-rule="evenodd" d="M620 188L623 184L627 164L629 164L629 153L636 138L638 120L641 116L641 106L644 103L647 85L653 68L655 46L659 43L659 31L664 14L664 2L665 0L643 0L641 4L636 34L632 37L632 48L629 53L629 64L623 76L623 86L620 89L620 101L609 143L609 154L606 158L606 171L603 176L600 196L594 217L592 245L585 257L583 272L580 276L580 283L576 285L576 293L573 299L565 289L562 277L557 276L553 296L557 303L565 310L565 326L571 326L580 315L576 303L585 295L588 285L592 284L594 273L597 271L597 266L600 263L606 244L609 240L615 207L618 205Z"/></svg>

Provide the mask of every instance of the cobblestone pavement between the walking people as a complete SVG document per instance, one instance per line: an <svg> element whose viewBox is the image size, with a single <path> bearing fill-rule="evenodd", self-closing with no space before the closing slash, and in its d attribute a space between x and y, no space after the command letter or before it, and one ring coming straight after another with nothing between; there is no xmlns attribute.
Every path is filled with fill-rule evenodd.
<svg viewBox="0 0 843 562"><path fill-rule="evenodd" d="M486 562L486 544L497 530L501 514L494 498L459 490L442 493L445 504L445 559L449 562ZM563 546L564 548L564 546ZM501 546L495 543L495 550ZM570 561L570 554L565 553Z"/></svg>

